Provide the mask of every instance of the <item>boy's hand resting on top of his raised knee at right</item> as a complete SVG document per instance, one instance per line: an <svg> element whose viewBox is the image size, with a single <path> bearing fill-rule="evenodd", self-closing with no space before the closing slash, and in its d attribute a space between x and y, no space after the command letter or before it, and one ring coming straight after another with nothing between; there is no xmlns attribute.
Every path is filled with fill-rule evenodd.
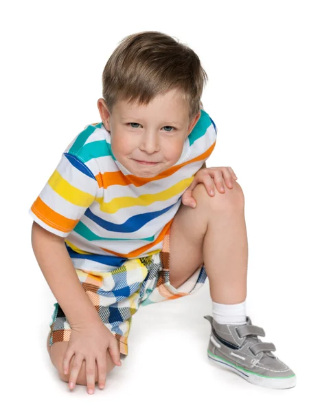
<svg viewBox="0 0 309 413"><path fill-rule="evenodd" d="M192 191L200 182L205 184L205 187L209 195L214 196L215 192L212 178L214 179L214 183L216 184L218 191L225 193L225 187L223 184L222 176L225 180L225 184L227 185L227 187L232 189L232 179L237 180L238 178L235 175L233 169L231 169L231 167L202 168L199 171L197 171L194 176L194 180L191 182L190 187L185 190L181 197L183 204L187 207L196 207L196 200L194 200L194 198L192 197Z"/></svg>

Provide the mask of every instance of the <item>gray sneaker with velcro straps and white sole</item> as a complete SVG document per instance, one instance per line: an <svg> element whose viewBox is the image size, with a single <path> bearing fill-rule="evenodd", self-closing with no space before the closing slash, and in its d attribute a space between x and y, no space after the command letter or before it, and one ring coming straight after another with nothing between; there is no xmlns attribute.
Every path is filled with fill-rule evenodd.
<svg viewBox="0 0 309 413"><path fill-rule="evenodd" d="M272 351L273 343L263 343L262 328L247 324L218 324L210 315L205 315L211 324L208 357L245 380L266 388L288 389L296 385L296 376Z"/></svg>

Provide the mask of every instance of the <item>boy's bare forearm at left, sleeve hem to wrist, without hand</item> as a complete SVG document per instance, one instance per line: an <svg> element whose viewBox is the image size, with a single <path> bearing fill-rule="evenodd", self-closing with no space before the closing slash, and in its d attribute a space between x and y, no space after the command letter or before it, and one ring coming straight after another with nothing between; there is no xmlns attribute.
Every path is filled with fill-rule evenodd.
<svg viewBox="0 0 309 413"><path fill-rule="evenodd" d="M79 326L100 321L100 316L76 275L65 239L34 222L32 248L47 284L69 324Z"/></svg>

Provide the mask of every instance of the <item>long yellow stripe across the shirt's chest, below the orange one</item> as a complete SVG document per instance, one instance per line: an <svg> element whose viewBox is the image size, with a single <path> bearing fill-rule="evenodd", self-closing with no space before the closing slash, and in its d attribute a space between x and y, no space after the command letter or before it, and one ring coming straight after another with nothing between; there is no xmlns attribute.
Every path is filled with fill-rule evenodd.
<svg viewBox="0 0 309 413"><path fill-rule="evenodd" d="M138 198L133 198L130 196L122 196L119 198L115 198L111 200L111 202L105 202L100 204L100 209L102 212L115 213L121 208L137 206L147 207L153 202L166 201L172 198L174 195L181 193L184 189L190 186L192 180L194 180L193 176L191 178L185 178L181 180L177 184L174 184L172 187L165 189L165 191L161 191L158 193L146 193L144 195L139 196Z"/></svg>

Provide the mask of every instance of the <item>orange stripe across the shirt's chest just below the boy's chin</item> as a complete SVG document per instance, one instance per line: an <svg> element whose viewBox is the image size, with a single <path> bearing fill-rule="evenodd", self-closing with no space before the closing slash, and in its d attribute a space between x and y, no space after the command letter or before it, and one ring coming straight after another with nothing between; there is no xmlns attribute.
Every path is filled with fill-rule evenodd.
<svg viewBox="0 0 309 413"><path fill-rule="evenodd" d="M196 156L196 158L187 160L187 162L183 162L180 165L176 165L170 169L166 169L166 171L159 173L159 175L154 176L153 178L139 178L138 176L134 176L134 175L124 175L121 171L117 171L117 172L98 173L98 175L95 176L95 179L98 181L99 187L100 188L104 187L104 189L106 189L107 187L110 187L111 185L126 186L129 184L134 184L135 187L141 187L142 185L147 184L150 181L167 178L168 176L171 176L173 173L175 173L176 171L178 171L185 165L189 165L192 162L197 162L198 160L203 160L205 158L208 158L211 152L214 150L215 146L216 146L216 140L211 145L211 147L207 149L206 152L202 153L199 156Z"/></svg>

